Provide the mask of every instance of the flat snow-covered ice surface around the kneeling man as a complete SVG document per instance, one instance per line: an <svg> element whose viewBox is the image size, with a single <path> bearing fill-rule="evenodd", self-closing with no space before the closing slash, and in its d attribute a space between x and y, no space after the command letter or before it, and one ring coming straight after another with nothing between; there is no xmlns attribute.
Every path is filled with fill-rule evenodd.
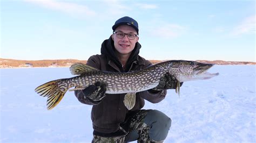
<svg viewBox="0 0 256 143"><path fill-rule="evenodd" d="M169 90L157 109L172 119L165 142L256 142L256 66L214 66L210 80L185 82L180 97ZM91 142L91 106L67 92L53 110L34 91L72 77L69 68L0 69L0 142Z"/></svg>

